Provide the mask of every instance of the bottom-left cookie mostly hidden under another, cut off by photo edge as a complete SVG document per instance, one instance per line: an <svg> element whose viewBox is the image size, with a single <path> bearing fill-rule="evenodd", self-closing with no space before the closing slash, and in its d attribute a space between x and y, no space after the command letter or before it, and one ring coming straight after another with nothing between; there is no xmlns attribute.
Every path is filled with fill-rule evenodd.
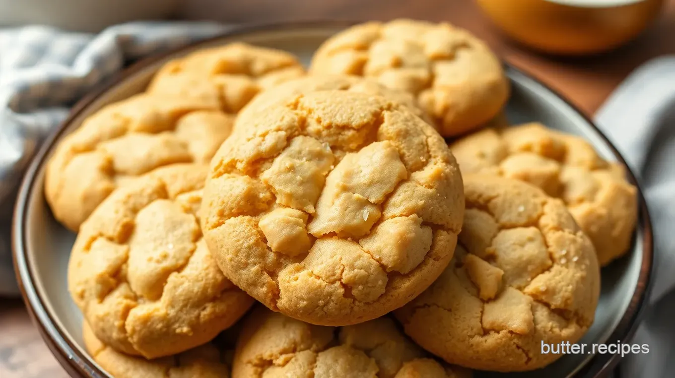
<svg viewBox="0 0 675 378"><path fill-rule="evenodd" d="M205 344L175 356L146 360L117 352L96 338L91 327L82 326L84 346L99 366L113 378L227 378L229 367L223 352Z"/></svg>

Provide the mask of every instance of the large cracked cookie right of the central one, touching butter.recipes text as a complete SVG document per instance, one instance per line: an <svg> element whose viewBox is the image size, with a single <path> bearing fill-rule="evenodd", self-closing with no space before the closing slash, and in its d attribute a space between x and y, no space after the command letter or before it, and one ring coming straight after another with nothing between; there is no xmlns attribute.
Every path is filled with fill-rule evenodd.
<svg viewBox="0 0 675 378"><path fill-rule="evenodd" d="M574 344L593 323L600 288L593 244L561 200L525 182L464 175L464 193L448 269L395 315L412 340L447 362L504 372L544 367L562 354L542 354L542 343Z"/></svg>

